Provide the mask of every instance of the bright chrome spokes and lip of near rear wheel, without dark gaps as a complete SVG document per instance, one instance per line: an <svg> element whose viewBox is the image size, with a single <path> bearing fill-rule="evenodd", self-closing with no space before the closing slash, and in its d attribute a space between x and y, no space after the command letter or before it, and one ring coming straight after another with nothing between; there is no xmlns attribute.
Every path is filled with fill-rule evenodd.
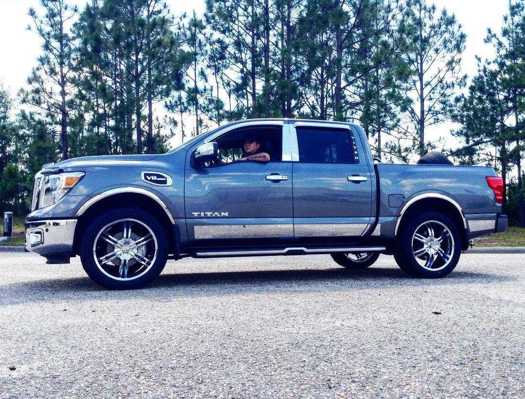
<svg viewBox="0 0 525 399"><path fill-rule="evenodd" d="M442 235L439 238L435 238L435 236L434 236L434 230L433 230L433 227L432 227L432 223L438 224L440 227L443 228L443 233L442 233ZM429 228L427 227L428 237L424 237L424 236L421 236L421 234L418 234L419 229L421 229L422 227L424 227L427 224L429 225ZM416 237L416 235L418 235L419 237ZM425 239L426 242L423 243L422 239ZM439 240L439 239L441 239L441 240ZM443 246L443 242L445 242L445 241L447 243L447 252L445 252L445 250L443 250L443 247L442 247ZM416 242L423 243L423 247L419 248L418 250L416 250L415 247L414 247L414 244ZM452 260L452 256L454 255L454 249L455 249L454 244L455 244L454 243L454 237L453 237L450 229L444 223L438 222L437 220L427 220L427 221L421 223L417 227L417 229L415 229L414 234L412 234L412 243L411 243L411 245L412 245L412 255L414 256L414 259L418 263L419 266L423 267L424 269L426 269L426 270L428 270L430 272L437 272L437 271L442 270L445 267L447 267L448 264L450 263L450 261ZM424 249L426 249L426 251L423 251ZM443 254L446 255L446 257L447 257L446 260L442 256L442 254L439 252L439 250L441 250L443 252ZM416 252L419 252L419 255L416 256ZM425 261L425 264L419 263L420 261L423 261L421 258L419 258L419 256L424 255L424 254L427 254L429 256L430 255L433 256L434 260L432 261L432 264L435 262L437 257L440 257L443 260L445 260L445 263L442 266L435 267L435 268L432 267L432 264L430 265L430 267L428 267L427 264L428 264L428 261L430 260L430 257L427 258L427 260Z"/></svg>

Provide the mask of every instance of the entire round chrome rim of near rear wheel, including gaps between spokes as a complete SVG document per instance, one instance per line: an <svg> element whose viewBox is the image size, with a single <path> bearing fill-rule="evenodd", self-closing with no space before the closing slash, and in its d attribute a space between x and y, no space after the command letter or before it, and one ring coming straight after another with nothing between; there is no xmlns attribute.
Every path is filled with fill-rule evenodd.
<svg viewBox="0 0 525 399"><path fill-rule="evenodd" d="M426 221L412 235L412 254L423 268L433 272L441 270L454 254L454 237L445 224Z"/></svg>

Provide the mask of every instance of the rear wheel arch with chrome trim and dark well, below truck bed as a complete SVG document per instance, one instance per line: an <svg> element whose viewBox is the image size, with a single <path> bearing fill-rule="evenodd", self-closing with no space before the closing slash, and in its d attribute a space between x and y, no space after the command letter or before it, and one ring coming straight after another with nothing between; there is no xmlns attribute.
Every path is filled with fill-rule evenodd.
<svg viewBox="0 0 525 399"><path fill-rule="evenodd" d="M461 235L461 247L463 250L467 249L467 220L463 210L455 200L439 193L424 193L408 200L397 218L394 235L397 236L402 225L411 219L411 214L426 211L443 213L456 223Z"/></svg>

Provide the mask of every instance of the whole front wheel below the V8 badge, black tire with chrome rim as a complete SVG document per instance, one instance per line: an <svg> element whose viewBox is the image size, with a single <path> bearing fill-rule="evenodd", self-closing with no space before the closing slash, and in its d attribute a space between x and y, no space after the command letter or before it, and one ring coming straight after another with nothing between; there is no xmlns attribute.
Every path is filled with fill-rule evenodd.
<svg viewBox="0 0 525 399"><path fill-rule="evenodd" d="M106 288L143 287L166 264L168 245L164 228L151 214L137 208L116 208L102 213L87 226L81 240L80 260L84 270Z"/></svg>

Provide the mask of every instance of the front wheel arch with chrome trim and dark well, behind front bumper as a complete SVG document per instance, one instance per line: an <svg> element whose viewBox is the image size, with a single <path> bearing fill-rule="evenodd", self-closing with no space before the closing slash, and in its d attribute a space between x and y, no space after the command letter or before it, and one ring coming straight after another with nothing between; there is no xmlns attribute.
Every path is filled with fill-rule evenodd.
<svg viewBox="0 0 525 399"><path fill-rule="evenodd" d="M73 240L73 252L79 253L80 241L88 224L102 212L119 208L119 204L134 207L151 213L158 220L166 232L169 253L180 254L180 232L165 203L154 193L137 188L125 187L112 189L91 198L77 211L77 227Z"/></svg>

